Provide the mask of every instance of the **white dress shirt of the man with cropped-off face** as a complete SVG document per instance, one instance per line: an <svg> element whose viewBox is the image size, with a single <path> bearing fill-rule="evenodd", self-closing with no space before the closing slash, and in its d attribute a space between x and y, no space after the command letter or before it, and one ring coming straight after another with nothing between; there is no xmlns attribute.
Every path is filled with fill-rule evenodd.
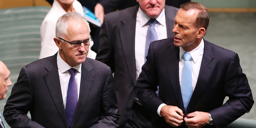
<svg viewBox="0 0 256 128"><path fill-rule="evenodd" d="M146 37L148 32L147 25L148 20L150 20L142 10L138 9L135 27L135 64L136 64L136 80L141 73L141 67L145 63L145 47L146 47ZM160 13L156 18L158 23L155 24L155 29L157 33L158 40L167 38L167 28L165 21L165 11Z"/></svg>

